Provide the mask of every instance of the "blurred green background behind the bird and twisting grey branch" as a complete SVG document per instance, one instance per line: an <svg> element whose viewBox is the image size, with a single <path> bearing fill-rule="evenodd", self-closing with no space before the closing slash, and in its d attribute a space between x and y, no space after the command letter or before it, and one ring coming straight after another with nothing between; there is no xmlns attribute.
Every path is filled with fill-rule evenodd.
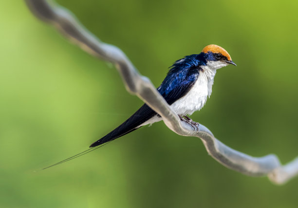
<svg viewBox="0 0 298 208"><path fill-rule="evenodd" d="M218 72L193 120L238 151L298 155L298 1L57 2L156 87L175 60L222 46L238 66ZM142 101L23 1L1 2L0 25L1 208L297 208L298 178L276 186L228 170L163 122L34 172L85 150Z"/></svg>

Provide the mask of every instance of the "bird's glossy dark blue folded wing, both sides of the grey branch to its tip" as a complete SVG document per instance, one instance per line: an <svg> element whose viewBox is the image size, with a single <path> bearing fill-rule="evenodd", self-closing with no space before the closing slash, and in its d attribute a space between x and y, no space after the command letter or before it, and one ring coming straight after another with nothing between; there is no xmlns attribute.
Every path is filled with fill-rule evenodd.
<svg viewBox="0 0 298 208"><path fill-rule="evenodd" d="M177 62L172 66L162 84L157 88L158 92L165 98L169 105L187 94L197 80L200 71L200 68L196 65L185 66L184 64L185 67L181 67ZM112 132L94 142L90 147L101 145L130 133L155 115L157 113L147 104L144 104L129 119Z"/></svg>

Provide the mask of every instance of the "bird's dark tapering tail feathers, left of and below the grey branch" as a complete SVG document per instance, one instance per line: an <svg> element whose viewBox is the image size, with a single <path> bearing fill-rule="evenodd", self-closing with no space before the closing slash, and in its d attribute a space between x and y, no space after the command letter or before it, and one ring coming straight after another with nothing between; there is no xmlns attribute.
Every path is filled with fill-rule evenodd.
<svg viewBox="0 0 298 208"><path fill-rule="evenodd" d="M116 138L124 136L134 130L138 129L138 126L148 121L154 115L156 115L155 111L149 108L148 105L144 104L137 112L130 116L123 124L118 126L112 132L108 133L101 139L94 142L90 147L96 147L98 145L104 144L106 142L112 141Z"/></svg>

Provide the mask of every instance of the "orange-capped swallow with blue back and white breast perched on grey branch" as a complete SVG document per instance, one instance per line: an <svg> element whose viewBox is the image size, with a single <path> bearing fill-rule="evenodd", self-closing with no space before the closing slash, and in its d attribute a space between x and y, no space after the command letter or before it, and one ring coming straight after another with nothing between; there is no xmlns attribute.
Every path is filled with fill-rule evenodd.
<svg viewBox="0 0 298 208"><path fill-rule="evenodd" d="M226 50L218 45L207 45L200 54L185 56L175 61L157 91L181 120L194 123L188 115L203 108L212 93L216 71L229 64L236 66ZM158 113L144 104L120 126L91 144L90 148L161 120Z"/></svg>

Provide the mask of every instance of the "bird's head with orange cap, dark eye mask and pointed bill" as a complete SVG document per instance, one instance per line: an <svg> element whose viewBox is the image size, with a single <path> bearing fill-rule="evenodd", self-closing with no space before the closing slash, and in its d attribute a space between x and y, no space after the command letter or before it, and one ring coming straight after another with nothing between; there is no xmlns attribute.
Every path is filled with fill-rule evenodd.
<svg viewBox="0 0 298 208"><path fill-rule="evenodd" d="M220 69L229 64L236 66L226 50L218 45L207 45L201 54L204 55L206 65L211 69Z"/></svg>

